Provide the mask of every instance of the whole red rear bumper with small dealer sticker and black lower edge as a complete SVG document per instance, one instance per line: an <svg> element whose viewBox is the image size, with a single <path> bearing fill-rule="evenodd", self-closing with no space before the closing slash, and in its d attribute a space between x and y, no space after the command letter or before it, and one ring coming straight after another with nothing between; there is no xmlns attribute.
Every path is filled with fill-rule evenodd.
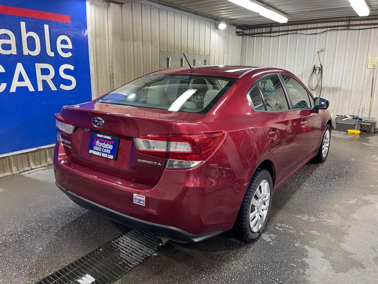
<svg viewBox="0 0 378 284"><path fill-rule="evenodd" d="M149 170L146 165L146 170ZM61 143L54 150L56 183L77 204L143 231L198 242L232 228L251 174L204 162L164 170L155 185L108 175L72 162ZM133 194L145 197L145 206Z"/></svg>

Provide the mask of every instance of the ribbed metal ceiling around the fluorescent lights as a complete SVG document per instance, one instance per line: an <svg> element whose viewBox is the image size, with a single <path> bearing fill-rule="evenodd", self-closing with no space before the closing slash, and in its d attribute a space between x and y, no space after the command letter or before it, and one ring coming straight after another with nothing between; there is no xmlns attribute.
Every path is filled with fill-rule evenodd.
<svg viewBox="0 0 378 284"><path fill-rule="evenodd" d="M259 0L289 18L289 23L303 20L331 19L338 17L356 17L356 12L348 0ZM228 21L238 28L248 25L275 23L259 14L235 5L227 0L164 0L154 1L168 3L181 8L194 10L212 17ZM370 8L370 16L378 15L378 0L366 0ZM363 17L361 17L363 20Z"/></svg>

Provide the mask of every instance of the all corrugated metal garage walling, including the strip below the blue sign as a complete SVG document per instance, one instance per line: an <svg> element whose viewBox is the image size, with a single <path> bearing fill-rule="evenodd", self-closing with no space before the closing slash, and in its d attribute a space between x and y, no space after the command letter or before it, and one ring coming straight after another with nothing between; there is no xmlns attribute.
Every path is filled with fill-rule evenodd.
<svg viewBox="0 0 378 284"><path fill-rule="evenodd" d="M316 52L321 51L321 96L330 100L333 117L368 115L372 69L367 69L367 60L369 56L378 56L378 29L367 29L369 26L361 27L364 30L316 35L309 34L324 30L302 31L305 35L242 37L235 35L232 25L220 31L215 20L149 1L117 5L103 0L87 0L87 22L93 98L158 70L159 50L210 55L210 64L279 67L298 75L307 86ZM291 28L320 25L324 24ZM261 31L268 28L246 32ZM319 90L313 94L319 95ZM378 83L373 94L371 116L378 117ZM51 164L52 156L51 147L2 154L0 177Z"/></svg>

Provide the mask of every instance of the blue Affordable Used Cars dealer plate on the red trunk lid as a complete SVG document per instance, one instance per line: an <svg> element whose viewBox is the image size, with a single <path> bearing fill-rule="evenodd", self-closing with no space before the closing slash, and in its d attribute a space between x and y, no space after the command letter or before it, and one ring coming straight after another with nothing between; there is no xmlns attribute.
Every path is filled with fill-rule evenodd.
<svg viewBox="0 0 378 284"><path fill-rule="evenodd" d="M91 133L88 152L107 159L117 158L118 138L99 133Z"/></svg>

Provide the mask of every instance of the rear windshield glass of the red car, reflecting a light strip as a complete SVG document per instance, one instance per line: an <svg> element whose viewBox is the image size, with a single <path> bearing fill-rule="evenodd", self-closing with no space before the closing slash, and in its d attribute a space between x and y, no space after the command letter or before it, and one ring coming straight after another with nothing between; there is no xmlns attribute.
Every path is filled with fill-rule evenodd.
<svg viewBox="0 0 378 284"><path fill-rule="evenodd" d="M204 114L235 78L204 75L146 75L124 84L97 102Z"/></svg>

